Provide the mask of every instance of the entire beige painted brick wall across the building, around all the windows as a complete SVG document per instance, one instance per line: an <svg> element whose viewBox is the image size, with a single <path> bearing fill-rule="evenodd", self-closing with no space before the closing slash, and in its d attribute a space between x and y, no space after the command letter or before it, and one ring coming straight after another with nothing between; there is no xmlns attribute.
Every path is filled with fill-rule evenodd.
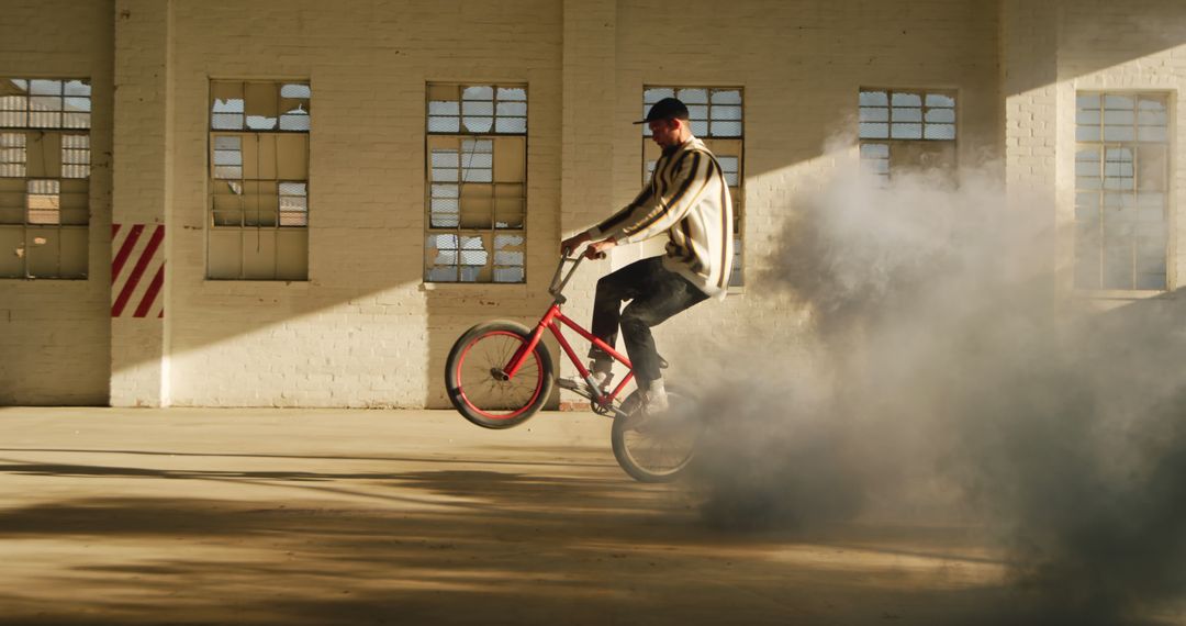
<svg viewBox="0 0 1186 626"><path fill-rule="evenodd" d="M687 365L677 346L740 319L797 337L763 272L795 199L837 167L829 141L855 154L861 87L957 90L961 165L1065 223L1075 90L1177 92L1186 74L1173 0L8 5L21 24L0 25L0 75L95 78L95 173L90 280L0 282L0 403L444 407L452 341L534 321L560 237L637 192L644 84L745 89L746 287L661 326L661 350ZM204 279L212 78L312 84L306 282ZM421 281L429 81L529 84L525 286ZM109 321L113 102L116 221L167 224L164 320ZM593 280L638 254L587 267L567 312L585 321Z"/></svg>

